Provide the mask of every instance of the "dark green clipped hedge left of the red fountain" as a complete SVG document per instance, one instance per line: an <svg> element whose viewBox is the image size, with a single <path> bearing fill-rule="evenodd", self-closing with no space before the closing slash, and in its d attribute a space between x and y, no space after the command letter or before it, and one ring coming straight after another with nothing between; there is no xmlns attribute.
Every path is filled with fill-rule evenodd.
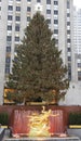
<svg viewBox="0 0 81 141"><path fill-rule="evenodd" d="M0 113L0 124L2 125L2 126L8 126L9 125L9 115L8 115L8 113L4 113L4 112L2 112L2 113Z"/></svg>

